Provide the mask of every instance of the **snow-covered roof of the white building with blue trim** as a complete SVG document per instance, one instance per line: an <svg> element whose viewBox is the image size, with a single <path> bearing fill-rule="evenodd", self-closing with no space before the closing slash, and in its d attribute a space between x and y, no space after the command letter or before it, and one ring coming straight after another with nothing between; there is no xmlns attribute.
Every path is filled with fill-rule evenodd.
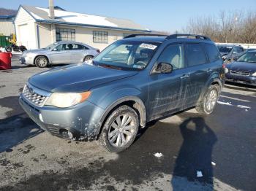
<svg viewBox="0 0 256 191"><path fill-rule="evenodd" d="M54 10L54 19L48 16L49 9L32 6L20 6L26 10L34 20L40 23L59 23L75 26L91 26L99 28L113 28L127 31L150 32L148 28L134 23L132 20L118 19L113 17L102 17L78 12L68 12L60 9Z"/></svg>

